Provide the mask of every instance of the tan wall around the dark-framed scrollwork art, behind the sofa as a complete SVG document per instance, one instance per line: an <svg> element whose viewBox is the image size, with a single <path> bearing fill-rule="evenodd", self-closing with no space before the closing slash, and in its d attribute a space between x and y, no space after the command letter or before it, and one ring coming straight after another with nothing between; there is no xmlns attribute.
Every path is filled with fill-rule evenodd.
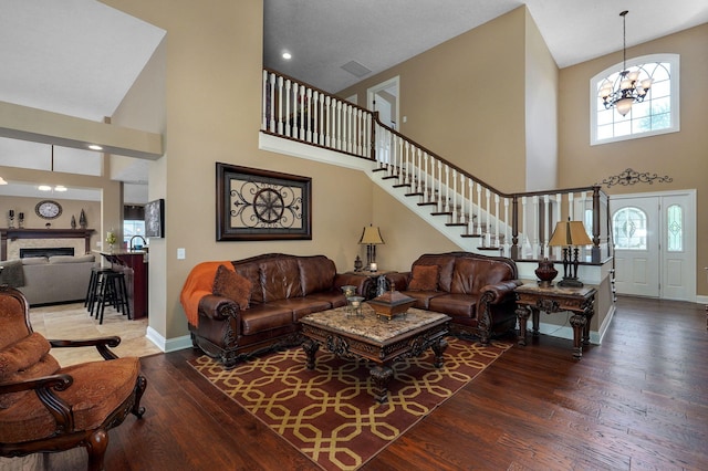
<svg viewBox="0 0 708 471"><path fill-rule="evenodd" d="M150 240L150 280L163 276L164 312L155 312L159 301L150 301L150 326L166 338L187 334L179 292L201 261L324 253L341 271L353 268L362 228L371 222L371 181L354 170L258 149L262 3L215 0L208 9L191 1L169 8L142 0L105 3L167 31L166 155L150 165L149 177L150 198L166 200L166 238ZM139 114L127 112L134 100L127 98L122 122ZM312 241L216 242L216 161L312 177ZM186 249L186 260L176 259L178 248Z"/></svg>

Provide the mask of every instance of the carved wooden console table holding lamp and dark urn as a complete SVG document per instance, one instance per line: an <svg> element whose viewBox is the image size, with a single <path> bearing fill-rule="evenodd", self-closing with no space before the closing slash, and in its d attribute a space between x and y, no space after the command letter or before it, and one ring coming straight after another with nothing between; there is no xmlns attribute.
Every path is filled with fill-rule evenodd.
<svg viewBox="0 0 708 471"><path fill-rule="evenodd" d="M517 294L517 316L519 317L519 345L527 344L527 321L532 314L533 336L539 336L539 314L563 311L573 313L573 358L581 359L583 345L590 344L590 321L595 314L594 303L597 290L591 286L560 287L523 284L514 290Z"/></svg>

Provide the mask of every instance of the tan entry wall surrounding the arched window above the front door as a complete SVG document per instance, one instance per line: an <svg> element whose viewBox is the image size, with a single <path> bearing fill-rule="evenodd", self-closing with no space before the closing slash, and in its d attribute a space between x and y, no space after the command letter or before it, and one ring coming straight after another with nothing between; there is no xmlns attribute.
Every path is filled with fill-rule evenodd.
<svg viewBox="0 0 708 471"><path fill-rule="evenodd" d="M673 189L697 190L696 292L708 294L708 24L691 28L627 50L627 57L680 54L680 132L620 143L590 145L590 78L622 62L622 51L561 70L559 143L561 187L585 186L627 168L673 178L670 184L637 184L604 188L612 195Z"/></svg>

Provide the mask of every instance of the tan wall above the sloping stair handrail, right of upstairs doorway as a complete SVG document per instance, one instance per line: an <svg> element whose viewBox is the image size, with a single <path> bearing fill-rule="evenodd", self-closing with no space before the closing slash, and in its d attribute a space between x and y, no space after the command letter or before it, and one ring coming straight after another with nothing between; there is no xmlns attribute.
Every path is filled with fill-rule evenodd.
<svg viewBox="0 0 708 471"><path fill-rule="evenodd" d="M400 132L500 191L523 191L525 7L460 34L357 85L400 76ZM403 117L407 122L403 122Z"/></svg>

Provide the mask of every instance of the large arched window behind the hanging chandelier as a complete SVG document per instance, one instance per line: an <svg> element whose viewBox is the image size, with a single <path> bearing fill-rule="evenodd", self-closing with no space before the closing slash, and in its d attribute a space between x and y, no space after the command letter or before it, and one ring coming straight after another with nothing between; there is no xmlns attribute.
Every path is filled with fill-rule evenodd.
<svg viewBox="0 0 708 471"><path fill-rule="evenodd" d="M615 107L605 108L601 87L610 83L618 86L623 64L613 65L590 81L591 145L634 139L679 130L679 55L653 54L627 60L627 70L638 72L639 80L653 80L646 97L634 103L622 116Z"/></svg>

